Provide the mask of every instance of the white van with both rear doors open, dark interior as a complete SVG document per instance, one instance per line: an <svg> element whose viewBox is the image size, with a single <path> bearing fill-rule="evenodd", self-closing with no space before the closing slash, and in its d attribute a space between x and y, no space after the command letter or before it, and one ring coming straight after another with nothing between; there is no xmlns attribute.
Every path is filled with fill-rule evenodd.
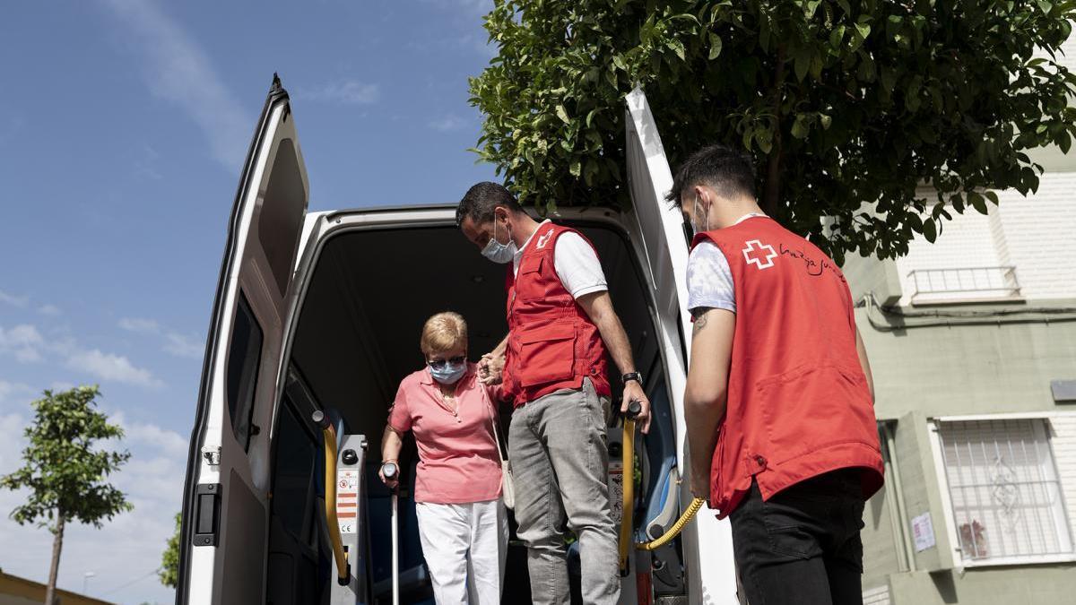
<svg viewBox="0 0 1076 605"><path fill-rule="evenodd" d="M637 441L638 469L624 473L641 476L634 530L645 540L668 529L691 500L678 470L686 452L688 247L680 213L663 200L671 175L641 90L628 96L625 115L634 210L562 209L554 219L597 247L653 403L651 432ZM184 488L178 604L391 602L390 494L377 465L396 386L423 363L422 322L445 309L463 313L472 356L507 329L504 267L458 231L454 205L307 213L308 192L287 93L274 78L242 171L213 305ZM340 433L337 442L323 439L315 411ZM620 433L619 425L609 428L610 448L619 447ZM335 452L325 454L344 435L358 495L348 519L334 523L325 503L327 493L338 497L326 490L335 487ZM408 449L400 599L433 603L410 500L413 444ZM354 450L362 450L357 458ZM346 573L334 560L340 530L351 540ZM727 523L706 510L669 545L634 551L627 569L623 603L737 602ZM340 596L338 575L348 577L349 597ZM525 551L514 539L505 586L505 603L529 602ZM578 602L578 587L574 593Z"/></svg>

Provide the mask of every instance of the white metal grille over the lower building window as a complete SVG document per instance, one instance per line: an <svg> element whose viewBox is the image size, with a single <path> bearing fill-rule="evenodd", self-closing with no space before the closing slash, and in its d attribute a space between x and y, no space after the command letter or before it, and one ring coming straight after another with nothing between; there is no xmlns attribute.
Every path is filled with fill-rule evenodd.
<svg viewBox="0 0 1076 605"><path fill-rule="evenodd" d="M964 561L1073 552L1043 420L942 422L939 434Z"/></svg>

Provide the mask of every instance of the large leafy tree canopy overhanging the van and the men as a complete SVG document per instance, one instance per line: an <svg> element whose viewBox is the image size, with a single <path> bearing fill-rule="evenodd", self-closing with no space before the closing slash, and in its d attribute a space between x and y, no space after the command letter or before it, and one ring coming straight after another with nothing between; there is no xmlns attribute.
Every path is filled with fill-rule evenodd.
<svg viewBox="0 0 1076 605"><path fill-rule="evenodd" d="M838 258L893 256L991 189L1034 192L1029 150L1068 151L1076 74L1054 58L1074 17L1071 0L496 0L476 151L540 211L626 205L641 85L674 167L741 145L781 223Z"/></svg>

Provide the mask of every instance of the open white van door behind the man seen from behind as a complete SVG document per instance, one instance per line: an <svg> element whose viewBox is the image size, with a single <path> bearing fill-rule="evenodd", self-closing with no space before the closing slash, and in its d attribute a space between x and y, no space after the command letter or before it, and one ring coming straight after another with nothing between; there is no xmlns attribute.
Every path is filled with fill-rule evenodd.
<svg viewBox="0 0 1076 605"><path fill-rule="evenodd" d="M688 238L680 211L665 201L665 195L672 188L672 173L647 96L641 88L636 88L628 94L626 102L627 180L650 265L649 281L661 324L662 349L676 416L678 467L681 474L686 475L688 428L683 414L683 391L691 351L686 339L686 335L691 334L691 316L686 309ZM680 486L679 497L679 510L682 511L691 502L686 481ZM704 508L684 527L681 536L689 602L738 603L732 531L727 520L718 521L712 512Z"/></svg>

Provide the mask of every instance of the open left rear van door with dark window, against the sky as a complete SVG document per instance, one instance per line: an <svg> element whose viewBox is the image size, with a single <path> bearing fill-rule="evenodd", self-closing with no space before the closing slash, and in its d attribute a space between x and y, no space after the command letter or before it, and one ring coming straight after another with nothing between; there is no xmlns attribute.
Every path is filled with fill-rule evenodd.
<svg viewBox="0 0 1076 605"><path fill-rule="evenodd" d="M274 75L231 210L190 435L176 603L265 603L269 436L309 187ZM225 554L227 553L227 554Z"/></svg>

